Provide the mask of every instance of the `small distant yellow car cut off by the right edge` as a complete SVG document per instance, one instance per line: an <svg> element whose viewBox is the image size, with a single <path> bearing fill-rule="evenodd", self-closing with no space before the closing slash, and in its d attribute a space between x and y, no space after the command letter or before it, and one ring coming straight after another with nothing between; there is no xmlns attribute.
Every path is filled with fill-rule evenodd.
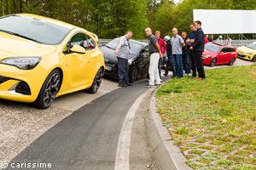
<svg viewBox="0 0 256 170"><path fill-rule="evenodd" d="M256 42L237 48L237 57L256 62Z"/></svg>

